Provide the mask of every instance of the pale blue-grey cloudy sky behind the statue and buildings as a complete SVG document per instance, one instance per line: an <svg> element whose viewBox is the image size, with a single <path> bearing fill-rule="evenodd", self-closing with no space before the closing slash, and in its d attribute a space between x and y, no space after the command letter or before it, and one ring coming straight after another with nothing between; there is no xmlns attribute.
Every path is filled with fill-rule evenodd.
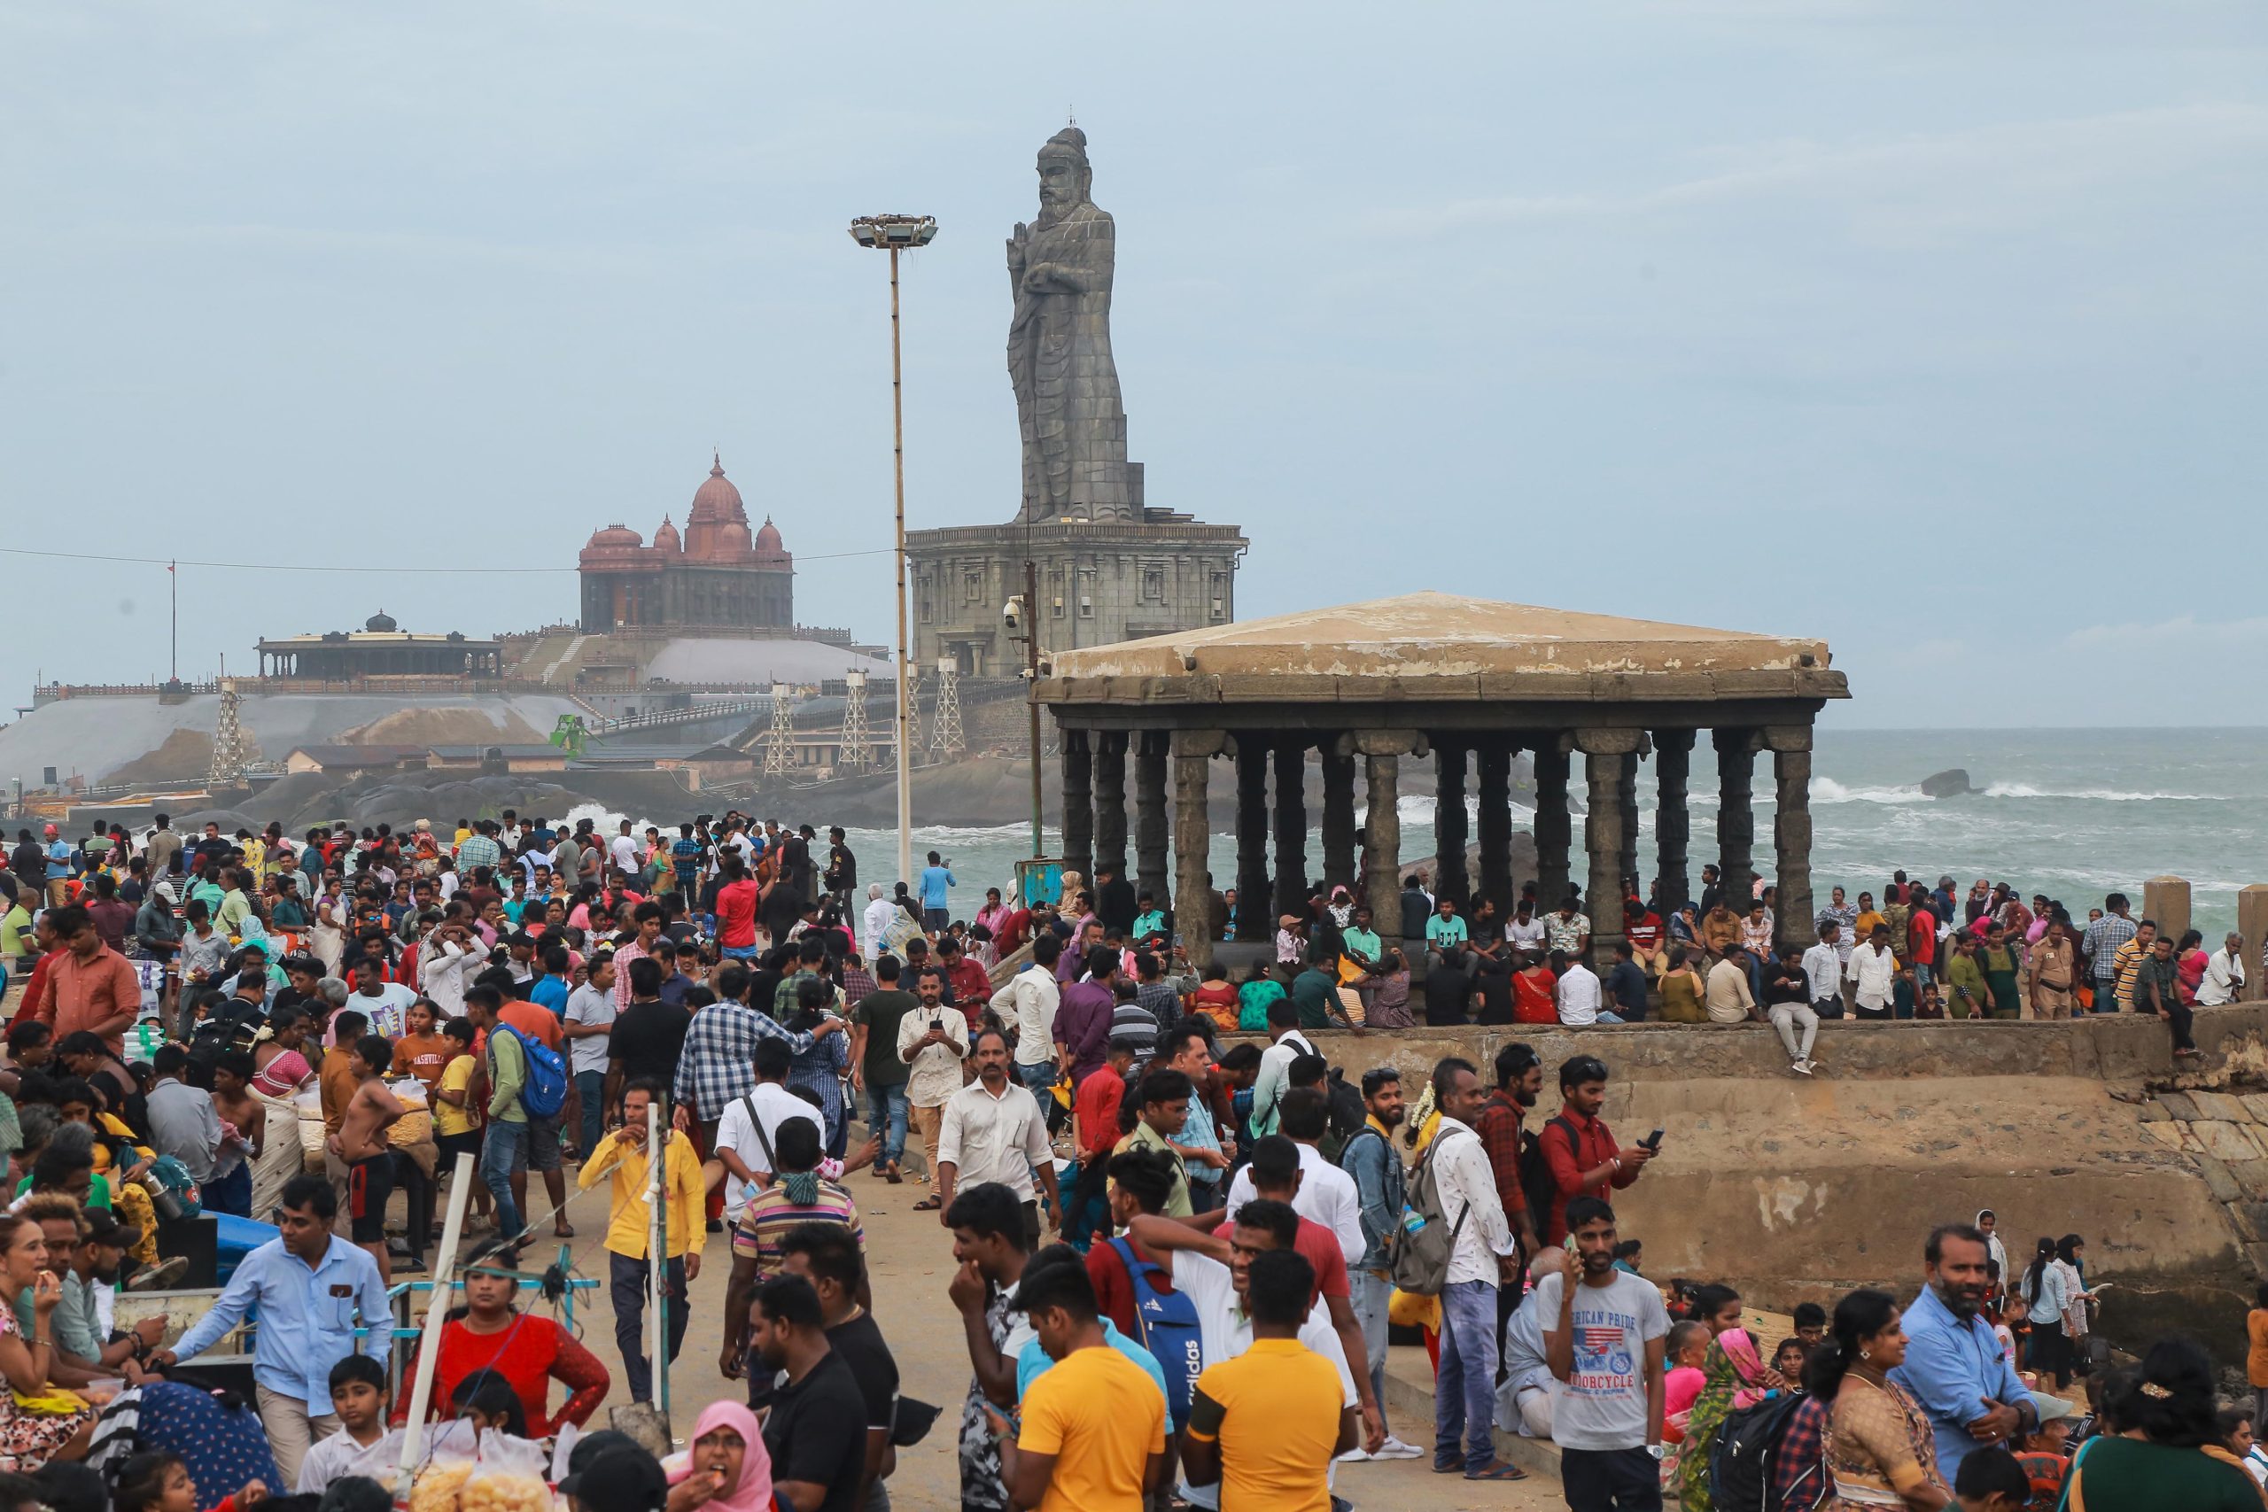
<svg viewBox="0 0 2268 1512"><path fill-rule="evenodd" d="M880 639L844 224L943 224L909 512L1007 519L1002 238L1073 109L1132 453L1245 526L1245 617L1438 587L1823 635L1846 725L2263 719L2234 0L11 0L0 546L254 564L181 571L204 676L569 619L587 533L683 524L717 447L801 619ZM163 676L163 569L7 569L7 703Z"/></svg>

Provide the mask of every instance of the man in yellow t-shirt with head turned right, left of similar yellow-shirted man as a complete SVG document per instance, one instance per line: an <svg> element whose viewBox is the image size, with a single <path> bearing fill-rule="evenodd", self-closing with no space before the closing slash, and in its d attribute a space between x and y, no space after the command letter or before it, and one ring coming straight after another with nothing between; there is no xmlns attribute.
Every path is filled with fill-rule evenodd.
<svg viewBox="0 0 2268 1512"><path fill-rule="evenodd" d="M1052 1258L1061 1249L1064 1258ZM1000 1435L1000 1478L1018 1507L1141 1512L1166 1483L1166 1396L1102 1340L1095 1285L1066 1245L1023 1267L1016 1306L1055 1365L1023 1396L1023 1426ZM991 1415L998 1421L998 1412Z"/></svg>

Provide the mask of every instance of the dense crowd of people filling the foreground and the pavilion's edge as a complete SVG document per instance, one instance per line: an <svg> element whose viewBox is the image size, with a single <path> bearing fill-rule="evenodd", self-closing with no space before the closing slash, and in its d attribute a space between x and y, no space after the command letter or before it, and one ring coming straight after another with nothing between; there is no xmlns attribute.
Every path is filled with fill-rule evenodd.
<svg viewBox="0 0 2268 1512"><path fill-rule="evenodd" d="M440 1335L442 1417L544 1437L612 1387L572 1331L517 1306L517 1247L576 1238L569 1170L608 1195L633 1401L653 1396L655 1353L683 1347L705 1238L730 1231L719 1371L746 1405L703 1412L667 1469L590 1435L572 1480L608 1487L608 1507L887 1505L898 1449L930 1424L871 1313L860 1170L928 1186L914 1211L950 1233L971 1383L943 1433L964 1507L1322 1512L1365 1460L1520 1480L1499 1428L1551 1439L1585 1512L1665 1496L1710 1512L1742 1473L1785 1480L1771 1505L1792 1507L2014 1512L2066 1478L2098 1487L2098 1507L2157 1505L2121 1487L2166 1476L2195 1485L2184 1505L2257 1494L2191 1464L2218 1455L2152 1458L2245 1460L2191 1347L2098 1369L2075 1235L2009 1267L1991 1215L1946 1224L1910 1303L1812 1308L1767 1365L1726 1288L1640 1274L1613 1201L1656 1152L1601 1120L1599 1056L1563 1061L1558 1111L1531 1124L1547 1068L1529 1040L1486 1070L1447 1056L1406 1090L1393 1068L1349 1086L1313 1038L1417 1011L1452 1027L1769 1020L1810 1074L1821 1018L2125 1006L2166 1018L2186 1052L2189 1006L2243 988L2236 936L2204 954L2152 938L2121 895L2080 927L2005 884L1957 900L1950 877L1898 875L1880 909L1835 889L1817 943L1776 952L1774 891L1730 900L1706 868L1703 895L1667 916L1633 889L1597 972L1579 895L1540 911L1531 889L1499 914L1411 877L1395 932L1349 886L1318 889L1236 982L1188 970L1173 911L1116 866L1066 873L1059 902L987 889L962 918L937 852L885 889L860 884L841 830L739 814L612 830L503 814L293 841L277 825L184 836L161 814L138 834L23 834L0 866L18 988L0 1133L18 1129L27 1195L0 1233L25 1297L0 1308L16 1387L0 1471L100 1462L98 1403L27 1396L116 1376L163 1419L177 1367L256 1310L259 1392L238 1412L274 1487L354 1483L408 1410L386 1390L388 1285L424 1269L463 1154L488 1258ZM1207 898L1207 927L1238 909L1234 891ZM279 1233L159 1349L163 1328L116 1331L102 1301L156 1274L156 1204L184 1197ZM646 1337L655 1242L665 1337ZM1388 1421L1395 1324L1436 1360L1431 1444ZM2096 1410L2073 1460L2075 1405L2053 1392L2080 1376ZM175 1471L245 1485L238 1505L268 1489L204 1449L172 1453L170 1469L111 1455L118 1505L179 1494Z"/></svg>

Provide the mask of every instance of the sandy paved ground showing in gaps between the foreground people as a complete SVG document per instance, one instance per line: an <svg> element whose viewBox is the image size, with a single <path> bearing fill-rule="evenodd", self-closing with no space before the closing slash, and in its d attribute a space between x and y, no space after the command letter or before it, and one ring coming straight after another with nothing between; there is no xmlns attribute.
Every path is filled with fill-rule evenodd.
<svg viewBox="0 0 2268 1512"><path fill-rule="evenodd" d="M959 1505L959 1469L953 1449L959 1403L968 1390L968 1349L962 1340L959 1315L946 1301L946 1281L953 1276L953 1235L946 1233L934 1213L912 1211L928 1192L925 1186L916 1181L889 1186L866 1172L850 1177L848 1183L866 1226L875 1322L898 1358L903 1390L907 1396L948 1408L928 1439L900 1451L898 1471L889 1480L891 1501L898 1507L955 1507ZM606 1256L599 1247L599 1235L606 1231L603 1190L569 1201L569 1220L578 1233L572 1245L581 1274L603 1279ZM547 1251L531 1249L528 1263L533 1265L540 1254ZM717 1371L728 1274L726 1235L712 1233L703 1247L701 1276L692 1283L692 1326L685 1333L685 1353L671 1371L671 1421L680 1437L703 1405L742 1392L739 1383L726 1381ZM603 1290L594 1297L599 1297L596 1313L578 1308L578 1322L585 1344L606 1360L608 1369L617 1369L617 1387L608 1394L608 1405L612 1405L626 1401L619 1387L621 1356L615 1349L615 1319L606 1308ZM599 1417L603 1419L603 1410ZM1395 1421L1395 1430L1413 1444L1431 1442L1431 1424ZM1565 1505L1558 1487L1545 1489L1535 1483L1476 1487L1454 1476L1431 1473L1427 1460L1343 1467L1338 1494L1352 1498L1356 1507L1427 1505L1442 1512L1481 1507L1542 1512Z"/></svg>

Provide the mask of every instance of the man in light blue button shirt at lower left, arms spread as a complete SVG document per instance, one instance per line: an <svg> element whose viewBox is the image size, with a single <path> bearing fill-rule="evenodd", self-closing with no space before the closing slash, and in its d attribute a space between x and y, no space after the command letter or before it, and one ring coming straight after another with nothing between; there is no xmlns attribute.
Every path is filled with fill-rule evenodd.
<svg viewBox="0 0 2268 1512"><path fill-rule="evenodd" d="M383 1362L392 1353L395 1313L386 1303L379 1263L331 1233L338 1197L322 1177L284 1186L281 1238L238 1263L213 1310L152 1365L177 1365L211 1349L259 1303L252 1381L261 1424L284 1485L299 1485L299 1460L315 1439L338 1433L331 1412L331 1367L361 1351ZM354 1326L370 1328L356 1347Z"/></svg>

